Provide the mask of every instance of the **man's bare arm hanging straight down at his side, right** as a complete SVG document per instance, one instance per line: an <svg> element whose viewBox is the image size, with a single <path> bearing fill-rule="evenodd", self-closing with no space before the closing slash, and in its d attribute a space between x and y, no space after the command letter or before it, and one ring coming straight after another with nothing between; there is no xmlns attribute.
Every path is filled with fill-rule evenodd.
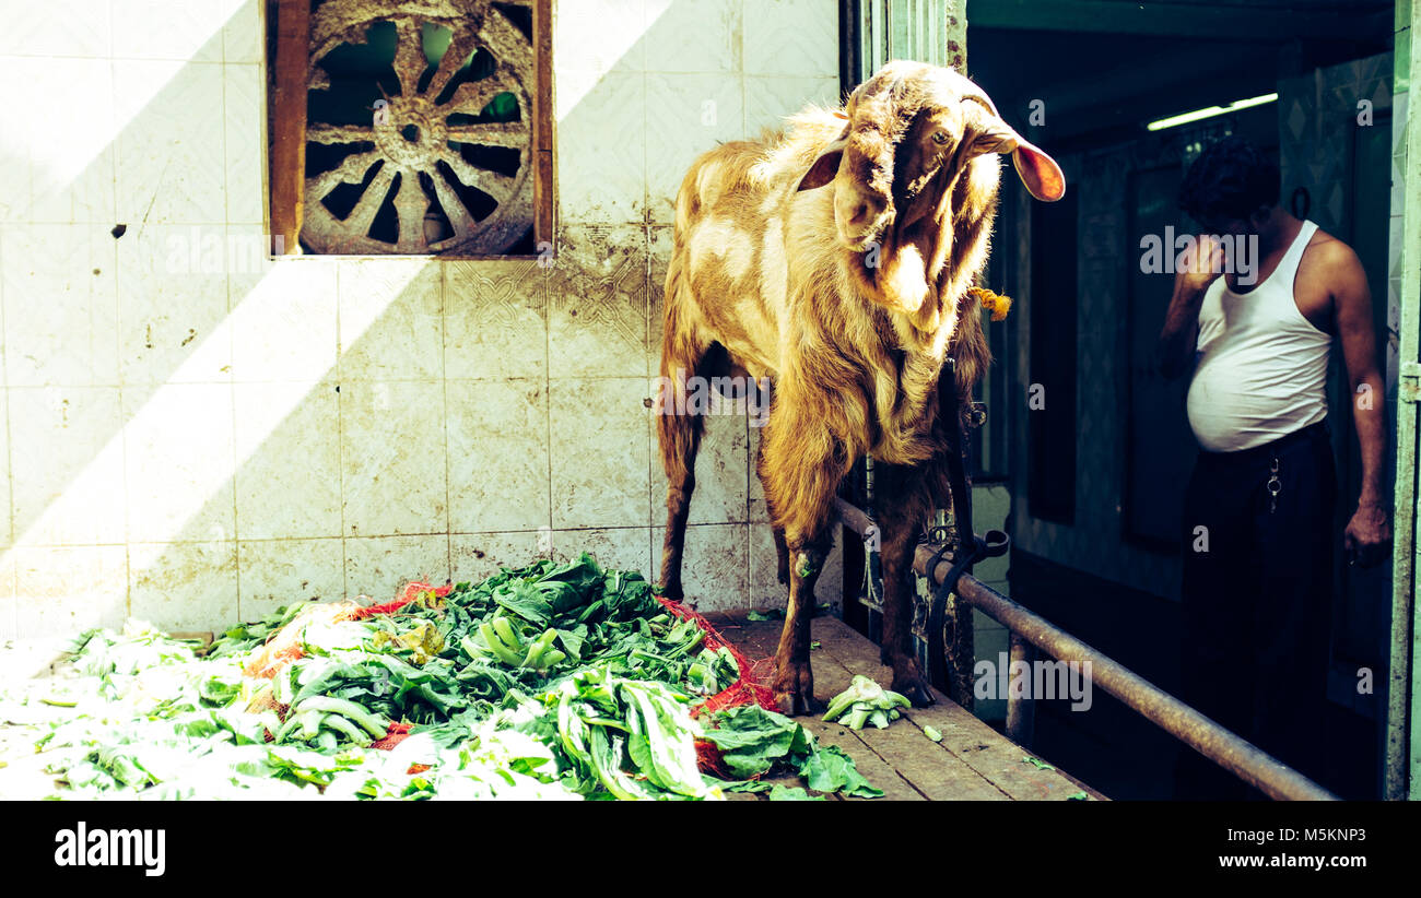
<svg viewBox="0 0 1421 898"><path fill-rule="evenodd" d="M1361 448L1361 493L1357 512L1347 524L1344 543L1363 566L1385 556L1391 539L1383 485L1387 453L1385 385L1377 364L1377 332L1371 320L1371 290L1357 254L1334 244L1327 259L1333 294L1333 315L1341 340L1347 384L1351 388L1351 419Z"/></svg>

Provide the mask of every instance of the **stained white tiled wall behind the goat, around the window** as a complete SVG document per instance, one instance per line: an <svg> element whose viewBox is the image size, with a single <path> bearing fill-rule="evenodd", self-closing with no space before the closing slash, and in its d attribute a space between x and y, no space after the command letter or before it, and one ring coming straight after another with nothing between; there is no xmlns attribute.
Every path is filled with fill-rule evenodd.
<svg viewBox="0 0 1421 898"><path fill-rule="evenodd" d="M250 251L259 7L0 0L0 638L583 548L651 571L672 198L716 141L836 99L837 4L556 3L551 267ZM702 608L783 602L755 438L712 419Z"/></svg>

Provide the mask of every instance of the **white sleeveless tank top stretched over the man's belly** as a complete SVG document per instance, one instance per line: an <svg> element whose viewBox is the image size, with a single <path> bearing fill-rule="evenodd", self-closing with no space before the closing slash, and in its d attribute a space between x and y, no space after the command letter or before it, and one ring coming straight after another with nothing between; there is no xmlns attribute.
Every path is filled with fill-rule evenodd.
<svg viewBox="0 0 1421 898"><path fill-rule="evenodd" d="M1194 438L1209 452L1262 446L1327 416L1331 337L1293 300L1316 230L1303 222L1277 269L1249 293L1218 277L1204 294L1188 409Z"/></svg>

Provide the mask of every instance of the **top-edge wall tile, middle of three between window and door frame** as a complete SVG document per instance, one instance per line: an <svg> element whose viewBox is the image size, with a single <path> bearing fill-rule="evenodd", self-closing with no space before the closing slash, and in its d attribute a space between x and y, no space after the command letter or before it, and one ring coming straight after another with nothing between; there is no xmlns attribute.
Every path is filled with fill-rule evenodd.
<svg viewBox="0 0 1421 898"><path fill-rule="evenodd" d="M647 0L647 71L739 71L740 7L740 0Z"/></svg>

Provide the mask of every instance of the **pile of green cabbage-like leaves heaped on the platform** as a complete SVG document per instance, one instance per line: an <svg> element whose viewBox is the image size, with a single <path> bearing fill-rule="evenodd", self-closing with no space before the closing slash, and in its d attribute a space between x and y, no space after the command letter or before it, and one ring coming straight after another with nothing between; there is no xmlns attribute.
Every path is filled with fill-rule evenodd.
<svg viewBox="0 0 1421 898"><path fill-rule="evenodd" d="M735 656L706 648L639 574L587 554L428 591L391 615L313 620L301 658L246 676L301 611L233 627L202 654L136 621L81 637L85 698L37 746L55 797L716 799L783 772L816 791L881 794L787 718L692 718L739 678ZM389 722L409 736L372 749ZM740 779L702 774L698 739Z"/></svg>

